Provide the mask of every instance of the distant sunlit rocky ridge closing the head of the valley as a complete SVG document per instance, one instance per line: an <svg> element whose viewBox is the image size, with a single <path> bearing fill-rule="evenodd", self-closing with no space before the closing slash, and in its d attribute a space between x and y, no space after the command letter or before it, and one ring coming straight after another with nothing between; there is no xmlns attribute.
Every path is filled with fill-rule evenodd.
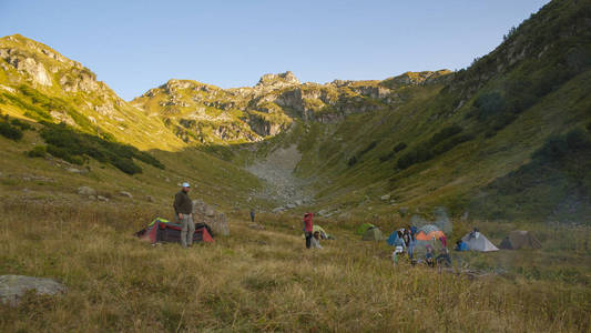
<svg viewBox="0 0 591 333"><path fill-rule="evenodd" d="M353 113L396 108L405 89L450 78L450 71L405 73L384 81L300 83L292 73L265 74L254 87L222 89L170 80L132 101L159 115L185 142L256 142L289 127L294 119L334 123Z"/></svg>

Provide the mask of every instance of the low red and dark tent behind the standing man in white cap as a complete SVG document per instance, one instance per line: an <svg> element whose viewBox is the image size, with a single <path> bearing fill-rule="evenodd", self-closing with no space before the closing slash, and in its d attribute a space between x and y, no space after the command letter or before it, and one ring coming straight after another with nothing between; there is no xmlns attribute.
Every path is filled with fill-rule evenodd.
<svg viewBox="0 0 591 333"><path fill-rule="evenodd" d="M195 232L193 233L193 243L206 242L213 243L212 230L205 223L195 223ZM145 229L135 233L142 240L149 241L152 244L157 242L181 242L181 224L172 223L169 220L156 218Z"/></svg>

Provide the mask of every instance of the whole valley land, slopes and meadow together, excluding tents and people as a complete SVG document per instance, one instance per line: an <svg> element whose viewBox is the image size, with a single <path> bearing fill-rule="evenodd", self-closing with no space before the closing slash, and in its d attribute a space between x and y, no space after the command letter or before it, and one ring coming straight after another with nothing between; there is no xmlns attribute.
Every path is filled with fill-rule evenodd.
<svg viewBox="0 0 591 333"><path fill-rule="evenodd" d="M386 75L171 78L126 101L51 46L0 38L0 273L69 289L0 305L0 327L589 331L591 2L550 1L465 69ZM183 182L230 234L140 242ZM306 212L336 240L302 252ZM450 245L478 228L541 248L393 268L355 233L440 219Z"/></svg>

